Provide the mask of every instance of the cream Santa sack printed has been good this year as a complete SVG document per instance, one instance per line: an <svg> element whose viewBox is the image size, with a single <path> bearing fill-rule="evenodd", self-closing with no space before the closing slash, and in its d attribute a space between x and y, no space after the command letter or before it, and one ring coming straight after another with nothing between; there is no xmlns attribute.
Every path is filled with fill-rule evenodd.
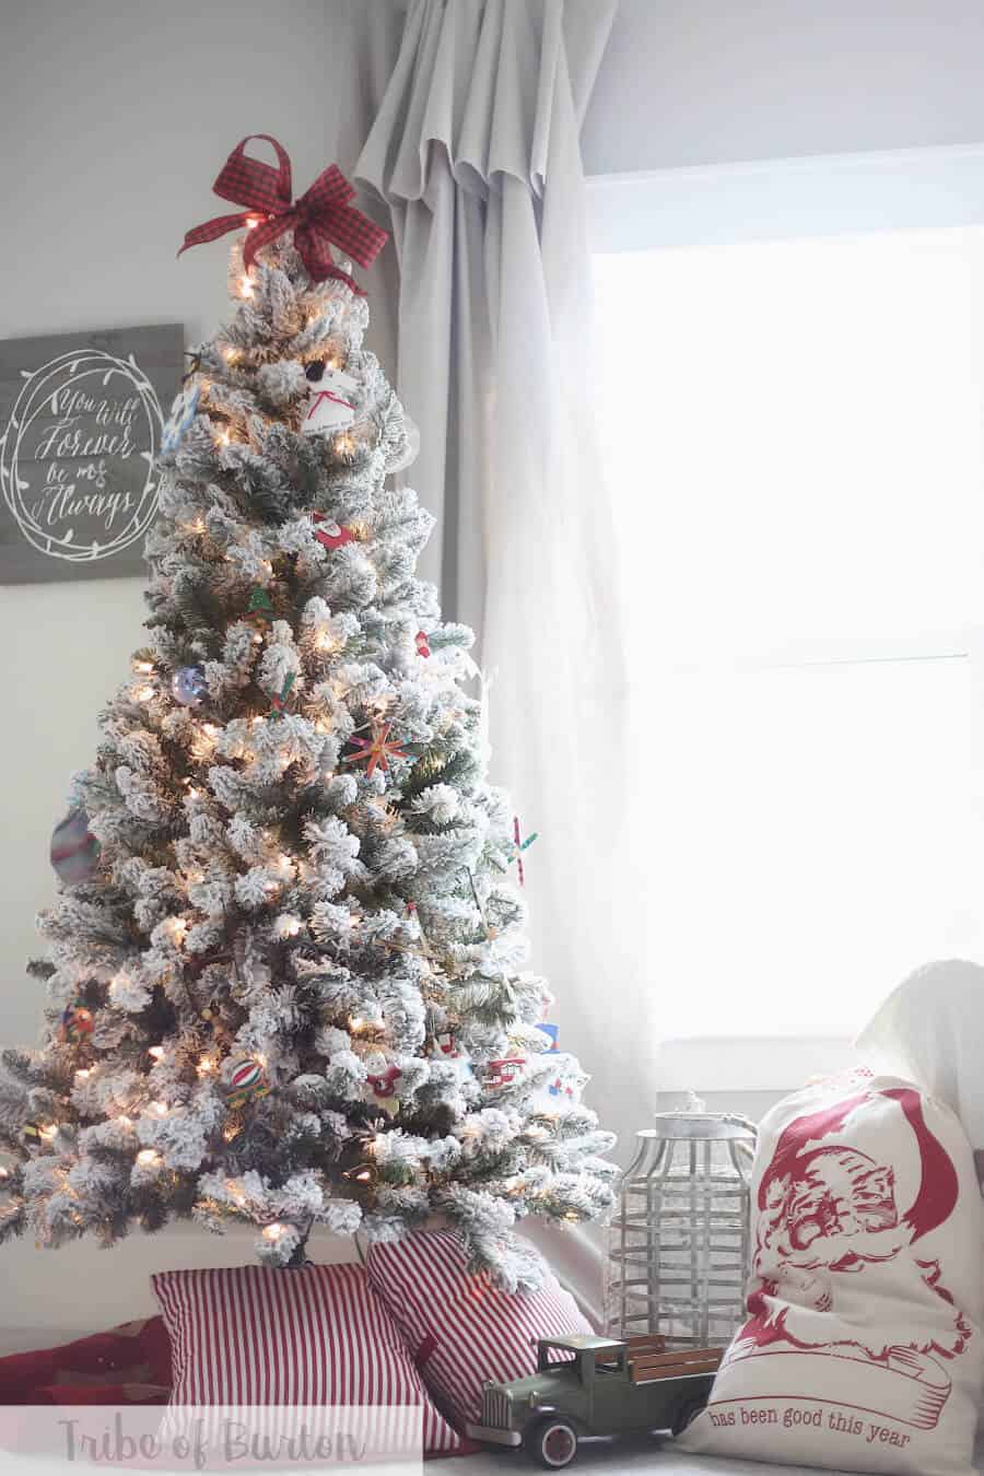
<svg viewBox="0 0 984 1476"><path fill-rule="evenodd" d="M953 1113L895 1077L763 1120L748 1321L680 1444L893 1476L971 1472L984 1207Z"/></svg>

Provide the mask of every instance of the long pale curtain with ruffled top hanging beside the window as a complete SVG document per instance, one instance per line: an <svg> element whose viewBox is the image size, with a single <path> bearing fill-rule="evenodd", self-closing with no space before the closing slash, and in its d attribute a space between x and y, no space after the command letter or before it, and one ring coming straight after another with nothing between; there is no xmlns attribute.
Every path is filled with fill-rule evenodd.
<svg viewBox="0 0 984 1476"><path fill-rule="evenodd" d="M540 837L524 858L531 964L558 995L561 1048L593 1076L586 1100L631 1137L648 1032L617 875L626 683L578 139L614 12L413 0L356 176L398 254L410 477L440 520L423 573L446 618L479 633L493 776ZM581 1247L597 1244L552 1249L595 1312L600 1263Z"/></svg>

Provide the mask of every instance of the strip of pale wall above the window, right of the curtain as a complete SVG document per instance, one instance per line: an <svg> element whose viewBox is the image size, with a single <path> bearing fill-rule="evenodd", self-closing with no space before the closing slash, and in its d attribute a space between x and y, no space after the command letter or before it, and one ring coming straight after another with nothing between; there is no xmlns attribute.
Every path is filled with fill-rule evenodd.
<svg viewBox="0 0 984 1476"><path fill-rule="evenodd" d="M620 0L590 174L984 139L980 0Z"/></svg>

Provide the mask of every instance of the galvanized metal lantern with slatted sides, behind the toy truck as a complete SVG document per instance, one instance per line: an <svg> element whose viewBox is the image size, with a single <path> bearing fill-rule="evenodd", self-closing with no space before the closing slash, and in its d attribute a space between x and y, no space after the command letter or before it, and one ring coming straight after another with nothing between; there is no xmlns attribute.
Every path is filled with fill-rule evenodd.
<svg viewBox="0 0 984 1476"><path fill-rule="evenodd" d="M704 1110L655 1122L620 1182L608 1328L659 1334L667 1348L720 1346L744 1320L755 1125Z"/></svg>

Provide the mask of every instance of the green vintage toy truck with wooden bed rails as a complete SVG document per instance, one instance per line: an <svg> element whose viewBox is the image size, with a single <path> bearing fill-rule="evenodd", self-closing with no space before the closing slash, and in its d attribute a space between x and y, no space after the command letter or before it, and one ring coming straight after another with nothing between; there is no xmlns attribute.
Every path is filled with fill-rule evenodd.
<svg viewBox="0 0 984 1476"><path fill-rule="evenodd" d="M537 1343L537 1373L487 1383L474 1441L522 1445L559 1470L583 1435L671 1430L680 1435L707 1404L723 1349L667 1352L661 1337L553 1337Z"/></svg>

